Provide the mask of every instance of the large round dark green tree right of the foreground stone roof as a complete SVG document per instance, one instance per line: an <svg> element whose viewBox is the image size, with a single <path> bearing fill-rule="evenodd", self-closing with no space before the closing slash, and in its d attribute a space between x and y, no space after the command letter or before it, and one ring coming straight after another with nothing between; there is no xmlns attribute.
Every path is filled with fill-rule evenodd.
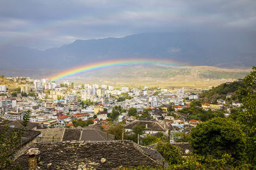
<svg viewBox="0 0 256 170"><path fill-rule="evenodd" d="M191 146L198 155L212 155L220 159L229 154L234 160L243 160L245 136L236 122L213 118L191 130Z"/></svg>

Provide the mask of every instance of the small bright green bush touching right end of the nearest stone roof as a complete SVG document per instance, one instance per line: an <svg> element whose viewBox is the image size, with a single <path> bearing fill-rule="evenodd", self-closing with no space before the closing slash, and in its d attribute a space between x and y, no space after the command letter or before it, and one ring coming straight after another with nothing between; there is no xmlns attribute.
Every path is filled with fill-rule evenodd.
<svg viewBox="0 0 256 170"><path fill-rule="evenodd" d="M157 143L155 148L169 164L180 164L182 162L179 150L170 143Z"/></svg>

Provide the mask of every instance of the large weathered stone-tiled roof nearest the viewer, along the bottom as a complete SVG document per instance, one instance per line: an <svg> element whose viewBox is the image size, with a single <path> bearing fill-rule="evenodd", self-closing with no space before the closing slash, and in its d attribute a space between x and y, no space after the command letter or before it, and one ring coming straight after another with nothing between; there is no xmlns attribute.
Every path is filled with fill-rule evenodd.
<svg viewBox="0 0 256 170"><path fill-rule="evenodd" d="M118 167L161 166L163 157L156 150L143 148L132 141L94 143L35 143L40 169L118 169ZM19 155L14 164L28 169L28 154Z"/></svg>

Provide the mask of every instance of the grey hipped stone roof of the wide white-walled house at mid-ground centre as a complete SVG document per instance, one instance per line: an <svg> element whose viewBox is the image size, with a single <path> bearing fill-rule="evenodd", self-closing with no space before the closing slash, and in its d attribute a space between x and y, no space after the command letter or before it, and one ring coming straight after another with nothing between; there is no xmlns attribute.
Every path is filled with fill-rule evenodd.
<svg viewBox="0 0 256 170"><path fill-rule="evenodd" d="M160 125L158 122L145 121L145 120L134 120L130 124L125 125L125 129L132 129L135 125L146 125L146 130L150 131L166 131L167 129Z"/></svg>

